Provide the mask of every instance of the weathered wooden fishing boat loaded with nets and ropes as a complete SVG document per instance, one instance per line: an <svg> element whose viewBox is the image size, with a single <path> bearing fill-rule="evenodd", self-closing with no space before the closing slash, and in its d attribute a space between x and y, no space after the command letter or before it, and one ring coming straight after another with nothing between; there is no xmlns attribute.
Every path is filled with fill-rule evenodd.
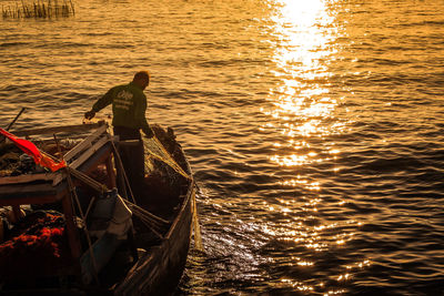
<svg viewBox="0 0 444 296"><path fill-rule="evenodd" d="M60 153L69 169L0 177L0 206L11 207L9 214L17 221L9 228L3 227L10 234L0 242L0 294L168 295L175 290L186 262L195 214L190 165L172 133L155 126L158 142L152 146L160 152L150 151L147 157L151 169L143 184L144 196L134 204L120 157L122 151L131 150L131 143L119 142L108 129L101 122L12 132L34 143L36 136L39 143L52 141L59 152L64 139L77 142ZM107 187L119 187L120 195L115 196L115 190L105 192ZM107 201L111 201L111 207ZM120 206L123 212L132 212L132 223L125 220L124 225L130 226L123 235L115 235L109 226L117 223L122 228L121 221L115 222L119 201L124 204ZM21 217L23 208L27 215ZM44 255L39 261L36 249L21 251L19 256L13 249L3 252L7 244L18 245L18 238L11 235L17 235L13 229L20 228L22 221L42 212L51 216L50 210L59 210L56 213L64 221L63 234L58 238L62 244L54 256L47 259ZM100 212L107 211L111 216L103 218ZM97 225L103 227L95 237L91 234ZM40 239L38 235L32 237Z"/></svg>

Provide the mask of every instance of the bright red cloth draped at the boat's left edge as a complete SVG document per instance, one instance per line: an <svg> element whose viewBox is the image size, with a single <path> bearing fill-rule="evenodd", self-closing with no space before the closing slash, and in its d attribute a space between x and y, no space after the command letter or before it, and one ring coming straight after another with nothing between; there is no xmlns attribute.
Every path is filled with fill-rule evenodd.
<svg viewBox="0 0 444 296"><path fill-rule="evenodd" d="M30 155L34 160L36 164L48 167L52 172L56 172L67 166L67 163L64 161L54 162L51 157L42 154L31 141L19 139L1 127L0 127L0 134L11 140L19 149L21 149L24 153Z"/></svg>

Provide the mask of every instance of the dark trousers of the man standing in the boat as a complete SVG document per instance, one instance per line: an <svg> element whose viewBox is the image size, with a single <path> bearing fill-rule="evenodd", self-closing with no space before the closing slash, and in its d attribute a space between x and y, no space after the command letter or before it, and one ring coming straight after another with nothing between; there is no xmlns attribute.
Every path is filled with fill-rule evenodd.
<svg viewBox="0 0 444 296"><path fill-rule="evenodd" d="M139 129L129 129L124 126L114 126L114 135L119 135L120 141L138 140L137 143L119 145L119 154L122 159L124 172L129 180L135 201L142 196L144 183L144 151L143 141ZM119 174L121 175L121 174Z"/></svg>

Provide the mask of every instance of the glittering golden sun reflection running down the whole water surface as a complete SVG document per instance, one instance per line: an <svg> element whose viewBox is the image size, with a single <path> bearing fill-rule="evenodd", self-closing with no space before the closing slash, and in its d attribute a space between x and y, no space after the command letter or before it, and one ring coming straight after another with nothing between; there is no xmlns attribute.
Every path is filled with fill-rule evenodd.
<svg viewBox="0 0 444 296"><path fill-rule="evenodd" d="M270 116L263 126L273 127L281 133L273 146L275 155L270 160L280 166L302 167L334 161L341 151L335 143L326 143L332 134L341 134L345 123L335 118L335 110L341 103L329 90L329 72L326 60L335 53L331 45L337 38L334 29L334 17L327 7L332 1L313 0L278 0L279 12L273 21L280 42L275 49L274 72L279 84L270 90L272 108L261 111ZM321 141L319 141L321 140ZM321 143L321 145L319 144ZM332 173L339 170L332 169ZM310 175L295 174L281 181L283 187L305 188L310 192L321 191L319 180ZM322 198L302 200L276 198L278 203L264 202L264 207L272 213L280 213L287 222L285 225L265 225L263 231L274 237L304 246L307 254L341 248L354 238L352 231L337 231L343 223L325 222L319 217ZM344 205L340 201L336 206ZM344 222L359 226L355 221ZM344 227L350 229L350 227ZM331 275L334 282L344 282L353 277L353 272L369 265L370 262L356 263ZM301 257L292 257L289 265L300 268L316 268L316 262ZM310 293L315 287L324 289L323 280L316 284L282 277L279 286L291 286L294 289ZM326 287L325 287L326 288ZM343 294L343 289L330 289L325 295Z"/></svg>

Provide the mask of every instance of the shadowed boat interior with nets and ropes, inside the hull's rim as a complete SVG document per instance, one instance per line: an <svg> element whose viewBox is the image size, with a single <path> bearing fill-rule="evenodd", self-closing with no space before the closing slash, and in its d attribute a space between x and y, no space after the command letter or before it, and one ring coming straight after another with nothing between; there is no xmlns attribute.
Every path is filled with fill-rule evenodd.
<svg viewBox="0 0 444 296"><path fill-rule="evenodd" d="M14 132L68 164L57 172L0 143L0 294L107 294L150 258L193 187L173 131L152 129L138 183L121 161L134 143L105 123Z"/></svg>

